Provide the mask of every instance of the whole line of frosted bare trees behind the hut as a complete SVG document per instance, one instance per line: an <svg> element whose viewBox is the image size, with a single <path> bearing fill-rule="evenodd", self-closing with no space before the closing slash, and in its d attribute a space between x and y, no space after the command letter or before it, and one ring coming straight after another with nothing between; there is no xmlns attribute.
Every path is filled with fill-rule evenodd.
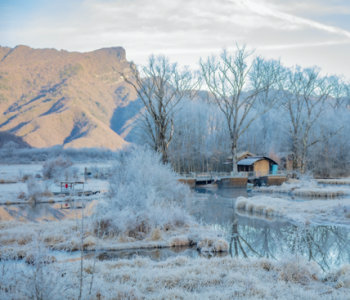
<svg viewBox="0 0 350 300"><path fill-rule="evenodd" d="M131 77L121 73L144 105L133 132L164 163L178 172L220 171L230 156L236 174L237 153L249 150L292 160L300 173L346 173L349 82L254 57L245 46L200 59L199 67L151 55L146 65L131 63Z"/></svg>

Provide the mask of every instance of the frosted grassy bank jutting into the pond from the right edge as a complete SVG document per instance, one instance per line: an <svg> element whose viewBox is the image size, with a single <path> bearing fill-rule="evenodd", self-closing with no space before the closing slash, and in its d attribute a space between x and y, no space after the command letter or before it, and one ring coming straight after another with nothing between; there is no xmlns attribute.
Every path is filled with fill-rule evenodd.
<svg viewBox="0 0 350 300"><path fill-rule="evenodd" d="M294 222L350 226L349 199L301 202L270 196L239 197L236 208L238 212L242 210L267 217L278 216Z"/></svg>

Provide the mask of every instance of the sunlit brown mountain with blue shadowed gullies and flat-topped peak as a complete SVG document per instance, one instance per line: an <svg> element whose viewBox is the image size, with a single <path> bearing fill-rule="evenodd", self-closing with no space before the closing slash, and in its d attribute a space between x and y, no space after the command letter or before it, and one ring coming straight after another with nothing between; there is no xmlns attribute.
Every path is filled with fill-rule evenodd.
<svg viewBox="0 0 350 300"><path fill-rule="evenodd" d="M139 103L118 72L130 74L122 47L0 47L0 131L32 147L121 148Z"/></svg>

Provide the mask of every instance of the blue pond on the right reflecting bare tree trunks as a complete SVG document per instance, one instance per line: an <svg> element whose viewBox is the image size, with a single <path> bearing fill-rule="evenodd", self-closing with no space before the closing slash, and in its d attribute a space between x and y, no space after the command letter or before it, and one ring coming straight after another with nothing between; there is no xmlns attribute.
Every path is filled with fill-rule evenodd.
<svg viewBox="0 0 350 300"><path fill-rule="evenodd" d="M280 260L298 253L317 262L325 271L350 263L348 228L299 226L283 219L267 220L258 216L244 216L235 210L237 191L232 191L230 198L230 190L237 189L217 190L216 195L207 193L208 200L202 203L202 210L197 217L226 230L231 256Z"/></svg>

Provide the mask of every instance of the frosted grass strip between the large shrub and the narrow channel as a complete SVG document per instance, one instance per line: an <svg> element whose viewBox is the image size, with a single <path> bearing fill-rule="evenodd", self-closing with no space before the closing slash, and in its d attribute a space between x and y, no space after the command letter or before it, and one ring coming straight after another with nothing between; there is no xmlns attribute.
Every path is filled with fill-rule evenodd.
<svg viewBox="0 0 350 300"><path fill-rule="evenodd" d="M148 234L140 232L138 236L131 237L123 233L113 236L102 234L97 236L95 224L90 221L85 220L84 250L148 249L196 245L203 252L228 251L224 232L198 224L172 229L155 228ZM33 247L33 240L43 242L52 250L79 250L81 245L80 224L81 221L74 219L47 223L1 222L0 256L15 251L19 256L25 257Z"/></svg>

